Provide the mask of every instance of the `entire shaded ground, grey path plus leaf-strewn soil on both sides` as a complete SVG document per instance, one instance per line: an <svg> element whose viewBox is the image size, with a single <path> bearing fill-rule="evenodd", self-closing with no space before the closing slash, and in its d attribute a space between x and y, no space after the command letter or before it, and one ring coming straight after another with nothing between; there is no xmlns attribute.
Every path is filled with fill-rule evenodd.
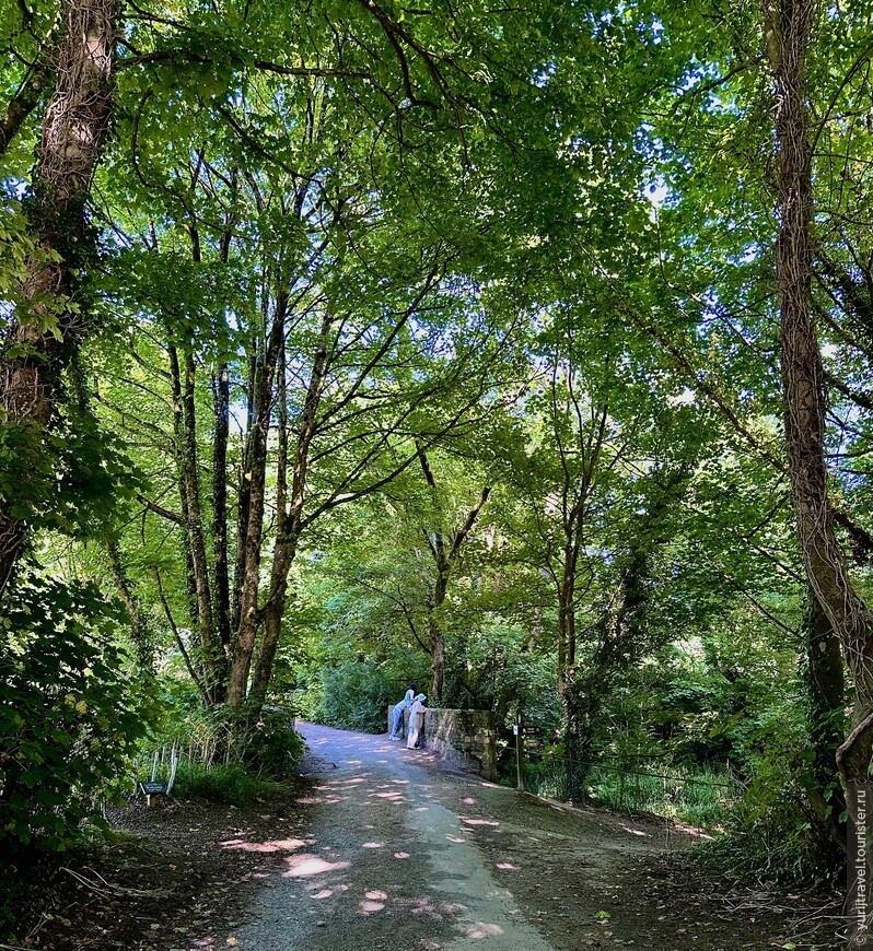
<svg viewBox="0 0 873 951"><path fill-rule="evenodd" d="M112 812L18 947L136 951L831 951L839 908L702 871L696 830L568 809L384 737L303 725L287 802ZM144 836L144 837L143 837ZM7 940L7 939L2 939ZM0 947L3 947L0 944ZM9 947L9 946L7 946Z"/></svg>

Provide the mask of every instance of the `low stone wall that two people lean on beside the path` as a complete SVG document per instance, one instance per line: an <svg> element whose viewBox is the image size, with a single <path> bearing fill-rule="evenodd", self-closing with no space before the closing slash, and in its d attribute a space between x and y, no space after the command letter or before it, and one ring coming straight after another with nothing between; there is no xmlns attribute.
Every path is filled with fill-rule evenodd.
<svg viewBox="0 0 873 951"><path fill-rule="evenodd" d="M388 732L394 708L388 708ZM409 725L409 711L404 711L404 741ZM490 711L429 709L419 745L441 760L475 770L492 782L497 778L497 731Z"/></svg>

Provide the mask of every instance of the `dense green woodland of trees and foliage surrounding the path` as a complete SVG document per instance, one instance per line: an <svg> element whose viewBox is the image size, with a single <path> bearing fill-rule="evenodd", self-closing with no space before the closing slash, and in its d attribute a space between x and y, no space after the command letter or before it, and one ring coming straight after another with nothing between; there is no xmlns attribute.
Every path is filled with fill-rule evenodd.
<svg viewBox="0 0 873 951"><path fill-rule="evenodd" d="M872 17L2 0L0 848L415 679L534 727L531 783L708 777L718 860L836 874Z"/></svg>

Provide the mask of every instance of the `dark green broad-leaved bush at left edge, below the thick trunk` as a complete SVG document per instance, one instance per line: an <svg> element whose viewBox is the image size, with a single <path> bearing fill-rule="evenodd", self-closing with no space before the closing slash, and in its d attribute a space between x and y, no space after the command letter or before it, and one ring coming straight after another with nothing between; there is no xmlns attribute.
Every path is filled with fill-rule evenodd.
<svg viewBox="0 0 873 951"><path fill-rule="evenodd" d="M129 786L152 697L91 585L22 578L0 615L0 853L61 850Z"/></svg>

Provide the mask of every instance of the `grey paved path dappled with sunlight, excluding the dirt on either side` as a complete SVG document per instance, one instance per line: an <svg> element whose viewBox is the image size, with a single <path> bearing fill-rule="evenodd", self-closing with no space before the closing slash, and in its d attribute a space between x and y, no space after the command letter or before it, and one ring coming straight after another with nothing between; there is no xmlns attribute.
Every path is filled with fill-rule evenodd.
<svg viewBox="0 0 873 951"><path fill-rule="evenodd" d="M481 852L480 843L508 834L493 813L480 811L485 789L501 787L457 774L443 783L422 768L429 753L384 736L310 726L306 735L324 765L298 800L305 831L263 842L237 833L222 843L278 853L258 919L225 936L238 937L241 951L358 951L376 947L376 934L412 951L479 941L547 951L494 878L520 870L514 855ZM221 948L218 940L189 951Z"/></svg>

